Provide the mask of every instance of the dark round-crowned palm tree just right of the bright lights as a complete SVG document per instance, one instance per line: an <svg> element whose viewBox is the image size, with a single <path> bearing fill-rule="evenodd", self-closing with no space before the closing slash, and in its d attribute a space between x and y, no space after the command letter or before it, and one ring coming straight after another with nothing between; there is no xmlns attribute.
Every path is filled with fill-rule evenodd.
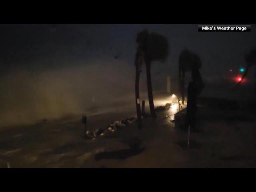
<svg viewBox="0 0 256 192"><path fill-rule="evenodd" d="M179 89L182 98L182 104L184 104L185 99L185 74L186 72L196 72L196 82L198 86L198 91L200 92L203 88L202 78L199 73L202 63L198 55L188 51L183 50L179 57Z"/></svg>

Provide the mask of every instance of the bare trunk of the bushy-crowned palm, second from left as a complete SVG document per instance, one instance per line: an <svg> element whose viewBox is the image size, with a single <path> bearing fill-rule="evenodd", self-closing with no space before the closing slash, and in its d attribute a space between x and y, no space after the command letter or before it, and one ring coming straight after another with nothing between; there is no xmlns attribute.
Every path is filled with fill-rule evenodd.
<svg viewBox="0 0 256 192"><path fill-rule="evenodd" d="M152 117L156 118L156 111L154 107L153 92L152 92L152 82L151 82L151 72L150 72L151 61L146 60L146 73L147 73L147 85L148 85L148 101L150 107L150 113Z"/></svg>

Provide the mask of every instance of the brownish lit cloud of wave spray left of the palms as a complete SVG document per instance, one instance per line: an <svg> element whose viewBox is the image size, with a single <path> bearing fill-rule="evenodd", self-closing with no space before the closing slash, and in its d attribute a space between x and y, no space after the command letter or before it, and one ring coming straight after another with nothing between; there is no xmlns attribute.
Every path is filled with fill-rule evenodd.
<svg viewBox="0 0 256 192"><path fill-rule="evenodd" d="M15 69L0 77L0 126L83 114L98 106L134 103L134 66L122 61L48 71Z"/></svg>

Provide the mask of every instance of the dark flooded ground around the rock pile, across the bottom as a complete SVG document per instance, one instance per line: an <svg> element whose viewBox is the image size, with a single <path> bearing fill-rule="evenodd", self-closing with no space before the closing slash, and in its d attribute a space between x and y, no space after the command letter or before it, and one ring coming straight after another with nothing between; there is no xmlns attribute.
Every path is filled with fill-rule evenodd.
<svg viewBox="0 0 256 192"><path fill-rule="evenodd" d="M4 130L0 167L256 167L253 114L201 106L200 131L190 133L188 146L187 129L170 121L175 112L144 118L142 130L135 122L95 140L84 139L80 116ZM88 120L95 130L133 115L123 110Z"/></svg>

